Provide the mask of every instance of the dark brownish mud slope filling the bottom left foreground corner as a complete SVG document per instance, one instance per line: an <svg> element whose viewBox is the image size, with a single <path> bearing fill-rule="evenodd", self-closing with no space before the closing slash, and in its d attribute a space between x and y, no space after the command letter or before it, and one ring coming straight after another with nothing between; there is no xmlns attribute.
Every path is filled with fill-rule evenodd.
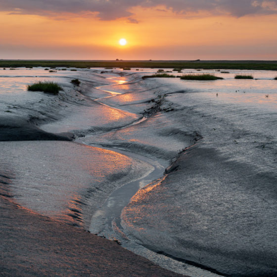
<svg viewBox="0 0 277 277"><path fill-rule="evenodd" d="M87 231L0 196L1 277L181 277Z"/></svg>

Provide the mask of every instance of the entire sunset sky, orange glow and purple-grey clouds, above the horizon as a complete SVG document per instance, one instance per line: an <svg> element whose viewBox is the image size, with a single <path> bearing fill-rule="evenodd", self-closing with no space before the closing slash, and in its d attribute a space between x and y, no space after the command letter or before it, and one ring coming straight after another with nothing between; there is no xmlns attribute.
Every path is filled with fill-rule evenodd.
<svg viewBox="0 0 277 277"><path fill-rule="evenodd" d="M0 0L0 23L2 59L277 60L277 0Z"/></svg>

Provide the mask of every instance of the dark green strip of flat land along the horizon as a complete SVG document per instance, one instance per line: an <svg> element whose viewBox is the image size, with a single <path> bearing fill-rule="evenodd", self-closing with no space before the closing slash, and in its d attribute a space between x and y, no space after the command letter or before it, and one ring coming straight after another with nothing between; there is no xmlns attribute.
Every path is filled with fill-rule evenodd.
<svg viewBox="0 0 277 277"><path fill-rule="evenodd" d="M277 70L277 61L130 61L130 60L0 60L0 67L115 67L115 68L180 68L180 69L242 69Z"/></svg>

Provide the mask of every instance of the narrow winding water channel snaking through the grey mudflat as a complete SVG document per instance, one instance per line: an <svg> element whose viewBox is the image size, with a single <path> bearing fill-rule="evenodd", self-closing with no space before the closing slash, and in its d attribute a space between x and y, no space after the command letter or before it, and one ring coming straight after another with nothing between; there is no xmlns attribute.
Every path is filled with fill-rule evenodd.
<svg viewBox="0 0 277 277"><path fill-rule="evenodd" d="M113 79L116 77L113 77ZM117 79L120 79L121 77L118 77ZM114 86L123 85L126 81L119 80L119 84L115 84ZM101 103L102 99L110 98L115 95L119 95L121 93L119 92L113 92L110 90L104 90L105 87L112 87L113 85L105 85L100 87L95 87L97 90L102 90L103 92L111 93L110 96L105 96L101 98L94 99L94 101L97 101ZM103 104L103 103L101 103ZM115 107L112 107L107 104L103 104L105 106L108 106L110 108L118 109ZM138 114L135 114L138 115ZM109 132L114 132L116 130L121 130L124 128L127 128L129 126L138 125L141 122L147 120L147 117L140 115L140 119L137 121L134 121L131 124L128 124L127 126L120 127L117 129L113 129ZM93 136L92 136L93 138ZM77 142L81 143L88 143L87 139L86 142L84 142L84 138L76 139ZM154 180L158 180L163 177L164 170L166 167L169 166L169 163L164 160L155 160L153 158L146 157L145 155L141 155L138 153L126 151L126 149L119 149L115 147L102 147L98 144L89 143L91 146L100 147L103 149L108 149L111 151L115 151L121 154L124 154L126 156L139 159L141 161L149 163L153 170L147 174L146 176L141 176L140 179L138 179L135 182L128 183L126 185L123 185L122 187L115 190L105 201L105 203L102 205L100 209L98 209L92 216L91 225L89 228L89 231L92 233L95 233L101 237L105 237L110 240L118 241L118 243L121 244L122 247L140 255L143 256L152 262L158 264L159 266L166 268L168 270L189 275L192 277L219 277L221 275L212 273L210 271L201 269L199 267L195 267L193 265L187 264L184 261L179 261L177 259L173 259L169 256L165 256L164 254L156 253L151 251L150 249L145 248L141 244L139 244L139 241L132 236L131 233L127 234L124 228L121 226L121 213L122 209L129 203L130 199L136 194L136 192L144 187L145 185L150 184Z"/></svg>

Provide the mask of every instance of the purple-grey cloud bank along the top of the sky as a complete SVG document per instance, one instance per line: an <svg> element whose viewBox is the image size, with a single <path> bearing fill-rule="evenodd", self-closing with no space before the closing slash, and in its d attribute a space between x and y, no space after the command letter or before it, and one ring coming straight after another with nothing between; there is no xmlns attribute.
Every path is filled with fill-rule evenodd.
<svg viewBox="0 0 277 277"><path fill-rule="evenodd" d="M45 16L90 12L102 20L129 17L129 22L134 21L130 9L135 6L164 6L184 17L203 11L236 17L277 13L277 0L0 0L1 11Z"/></svg>

